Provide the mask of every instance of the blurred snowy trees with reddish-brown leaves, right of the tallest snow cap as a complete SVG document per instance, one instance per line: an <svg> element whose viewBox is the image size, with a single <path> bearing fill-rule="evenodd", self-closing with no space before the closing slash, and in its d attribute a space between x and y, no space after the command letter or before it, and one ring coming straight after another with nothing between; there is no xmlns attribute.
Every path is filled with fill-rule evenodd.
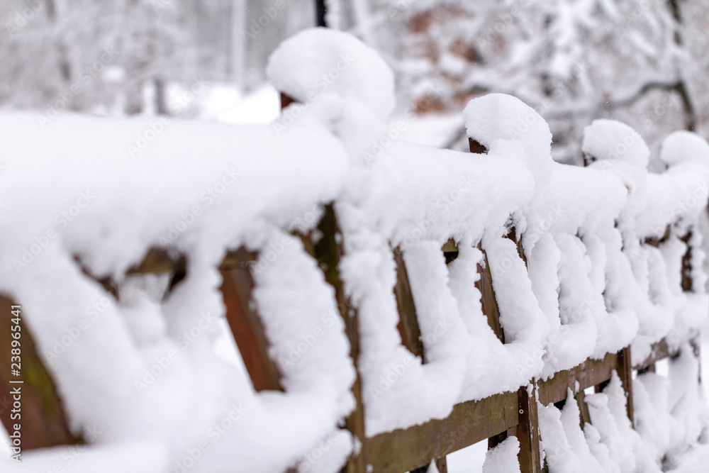
<svg viewBox="0 0 709 473"><path fill-rule="evenodd" d="M559 160L581 159L594 118L625 121L651 145L707 126L703 2L371 2L372 23L356 29L376 31L402 108L458 111L474 96L513 94L549 121Z"/></svg>

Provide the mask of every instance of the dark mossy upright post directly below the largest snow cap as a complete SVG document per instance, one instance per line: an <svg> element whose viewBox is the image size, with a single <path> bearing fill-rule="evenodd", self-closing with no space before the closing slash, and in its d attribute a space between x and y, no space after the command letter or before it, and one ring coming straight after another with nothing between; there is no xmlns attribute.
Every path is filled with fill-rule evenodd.
<svg viewBox="0 0 709 473"><path fill-rule="evenodd" d="M350 416L345 419L345 428L350 430L362 447L354 453L347 464L342 468L342 473L367 472L367 440L364 433L364 404L362 403L362 380L357 369L359 359L359 316L352 307L350 300L345 295L345 288L340 279L340 259L342 258L342 232L337 224L337 215L333 204L324 208L323 218L318 223L320 238L312 244L313 255L318 260L320 269L323 270L325 281L335 289L335 299L340 316L345 322L345 331L350 340L350 358L357 372L357 377L352 384L355 408Z"/></svg>

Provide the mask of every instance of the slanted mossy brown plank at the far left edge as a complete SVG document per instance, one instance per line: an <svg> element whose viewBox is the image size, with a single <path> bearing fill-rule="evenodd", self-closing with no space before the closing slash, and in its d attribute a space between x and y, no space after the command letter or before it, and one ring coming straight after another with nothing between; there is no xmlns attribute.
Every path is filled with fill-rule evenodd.
<svg viewBox="0 0 709 473"><path fill-rule="evenodd" d="M38 355L32 334L22 321L25 316L22 309L19 317L20 329L12 330L11 327L16 325L13 323L16 318L12 313L13 306L17 306L14 301L0 296L0 420L11 435L16 430L15 424L21 425L22 451L82 443L82 439L69 430L62 399ZM17 361L11 360L11 350L17 348L12 346L12 341L16 340L12 336L13 333L20 334L19 376L13 375L11 365L13 361ZM15 399L18 389L20 399ZM19 408L14 404L15 401L20 402ZM20 414L21 418L13 419L17 414Z"/></svg>

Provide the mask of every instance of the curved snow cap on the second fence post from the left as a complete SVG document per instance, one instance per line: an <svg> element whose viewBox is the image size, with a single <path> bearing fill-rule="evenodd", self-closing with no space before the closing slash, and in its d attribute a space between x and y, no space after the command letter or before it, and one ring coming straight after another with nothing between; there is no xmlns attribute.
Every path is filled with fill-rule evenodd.
<svg viewBox="0 0 709 473"><path fill-rule="evenodd" d="M468 137L491 154L510 141L521 143L527 167L537 188L549 180L552 169L552 132L547 122L517 97L488 94L469 101L463 111ZM507 143L506 143L507 142Z"/></svg>

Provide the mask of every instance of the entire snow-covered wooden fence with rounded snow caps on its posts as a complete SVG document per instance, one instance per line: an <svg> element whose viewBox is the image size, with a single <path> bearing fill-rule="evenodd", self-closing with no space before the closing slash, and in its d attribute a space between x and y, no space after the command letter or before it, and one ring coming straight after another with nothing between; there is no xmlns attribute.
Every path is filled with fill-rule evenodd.
<svg viewBox="0 0 709 473"><path fill-rule="evenodd" d="M406 143L384 124L391 71L333 31L284 43L269 74L292 123L172 123L128 164L106 142L150 121L69 116L32 135L32 116L0 116L6 150L52 177L83 170L48 210L25 184L0 189L25 203L0 225L37 212L0 246L3 326L22 308L24 448L95 442L99 424L97 443L161 439L146 472L445 472L485 439L489 472L652 472L698 438L703 139L670 135L648 172L635 131L596 121L587 166L560 165L541 116L491 94L464 111L473 153ZM57 138L77 129L80 150ZM80 215L47 233L80 192ZM125 289L150 275L159 298ZM214 354L203 307L224 313L246 377ZM668 357L671 386L652 374Z"/></svg>

